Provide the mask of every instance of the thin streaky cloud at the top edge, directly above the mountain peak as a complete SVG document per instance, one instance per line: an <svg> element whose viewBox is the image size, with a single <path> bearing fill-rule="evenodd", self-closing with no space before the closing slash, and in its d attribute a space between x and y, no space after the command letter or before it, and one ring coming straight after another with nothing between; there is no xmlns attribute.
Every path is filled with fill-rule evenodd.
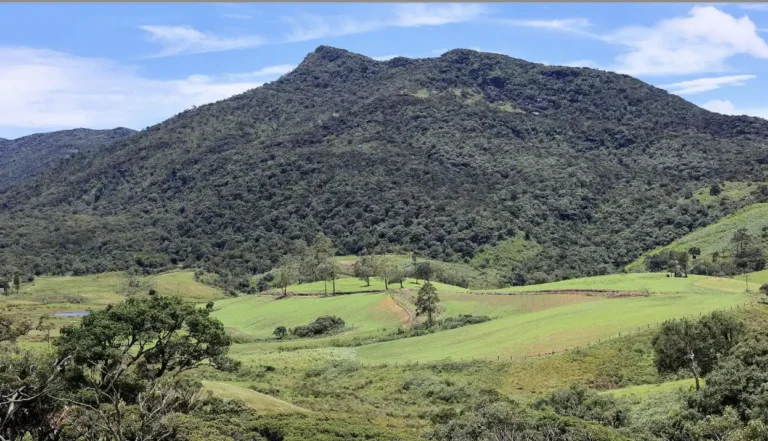
<svg viewBox="0 0 768 441"><path fill-rule="evenodd" d="M485 7L478 4L406 4L398 5L393 14L377 18L356 18L346 15L318 16L305 14L285 17L292 30L286 35L287 42L316 40L361 34L385 28L441 26L450 23L472 21L482 16Z"/></svg>

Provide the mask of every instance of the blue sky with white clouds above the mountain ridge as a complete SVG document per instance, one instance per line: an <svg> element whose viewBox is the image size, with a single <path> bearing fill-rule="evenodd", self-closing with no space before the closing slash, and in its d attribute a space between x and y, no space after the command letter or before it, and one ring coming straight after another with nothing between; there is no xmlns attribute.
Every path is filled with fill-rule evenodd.
<svg viewBox="0 0 768 441"><path fill-rule="evenodd" d="M768 118L767 38L768 3L5 3L0 137L144 129L274 81L319 45L610 70Z"/></svg>

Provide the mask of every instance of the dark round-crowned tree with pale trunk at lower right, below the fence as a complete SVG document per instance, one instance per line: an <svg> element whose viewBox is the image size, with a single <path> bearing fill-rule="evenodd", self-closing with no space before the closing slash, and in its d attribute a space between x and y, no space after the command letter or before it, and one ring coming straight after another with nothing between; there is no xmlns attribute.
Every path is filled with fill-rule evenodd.
<svg viewBox="0 0 768 441"><path fill-rule="evenodd" d="M743 326L732 317L716 312L698 321L668 320L653 337L656 368L661 373L687 369L696 380L709 373L718 357L738 342Z"/></svg>

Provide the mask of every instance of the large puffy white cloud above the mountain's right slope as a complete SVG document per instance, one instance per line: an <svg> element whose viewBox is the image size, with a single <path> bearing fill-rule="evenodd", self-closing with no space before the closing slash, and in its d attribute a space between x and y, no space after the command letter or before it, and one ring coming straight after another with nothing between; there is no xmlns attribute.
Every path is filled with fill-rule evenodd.
<svg viewBox="0 0 768 441"><path fill-rule="evenodd" d="M744 16L736 18L713 6L696 6L687 17L631 26L605 35L608 43L628 48L616 70L630 75L684 75L727 70L735 55L768 58L768 44Z"/></svg>

